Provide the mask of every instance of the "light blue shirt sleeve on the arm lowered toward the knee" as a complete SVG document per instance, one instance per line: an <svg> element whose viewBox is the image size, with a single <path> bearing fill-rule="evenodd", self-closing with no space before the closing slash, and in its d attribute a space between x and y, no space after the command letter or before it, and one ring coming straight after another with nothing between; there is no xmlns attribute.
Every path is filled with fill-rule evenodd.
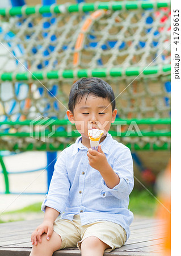
<svg viewBox="0 0 181 256"><path fill-rule="evenodd" d="M50 182L48 195L45 196L41 210L45 212L46 207L53 208L58 212L64 212L68 203L70 190L70 181L66 170L66 152L61 152L56 164Z"/></svg>

